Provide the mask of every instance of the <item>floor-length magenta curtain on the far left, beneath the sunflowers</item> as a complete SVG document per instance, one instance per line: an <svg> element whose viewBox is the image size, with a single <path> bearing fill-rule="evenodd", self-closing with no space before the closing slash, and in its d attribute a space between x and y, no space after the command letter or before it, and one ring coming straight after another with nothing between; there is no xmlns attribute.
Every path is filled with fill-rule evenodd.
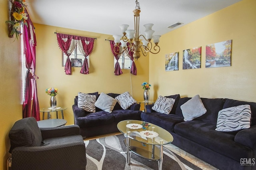
<svg viewBox="0 0 256 170"><path fill-rule="evenodd" d="M25 9L26 10L26 9ZM27 11L25 11L28 14ZM35 74L36 70L36 35L34 32L34 26L28 15L28 26L22 24L24 30L24 51L26 56L26 79L25 79L25 91L24 101L22 105L22 117L34 117L37 121L40 121L39 102L37 97L36 79L38 77ZM32 100L32 108L31 108Z"/></svg>

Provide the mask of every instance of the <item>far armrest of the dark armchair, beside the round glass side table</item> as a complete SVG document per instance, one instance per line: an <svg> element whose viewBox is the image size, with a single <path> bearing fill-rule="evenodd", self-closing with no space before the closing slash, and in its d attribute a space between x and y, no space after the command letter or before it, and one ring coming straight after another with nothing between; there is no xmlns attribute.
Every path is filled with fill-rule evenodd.
<svg viewBox="0 0 256 170"><path fill-rule="evenodd" d="M70 125L70 126L54 127L54 128L40 128L40 130L41 130L43 139L80 134L80 127L78 125Z"/></svg>

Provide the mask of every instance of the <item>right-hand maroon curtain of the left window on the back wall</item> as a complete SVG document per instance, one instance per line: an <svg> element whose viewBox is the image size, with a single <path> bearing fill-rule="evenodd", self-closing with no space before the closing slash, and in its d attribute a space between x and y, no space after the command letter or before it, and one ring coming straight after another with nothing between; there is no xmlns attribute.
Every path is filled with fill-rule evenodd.
<svg viewBox="0 0 256 170"><path fill-rule="evenodd" d="M89 42L89 43L86 44L85 41ZM85 57L84 63L83 63L80 73L89 74L89 66L88 66L87 56L92 53L92 49L93 49L93 45L94 45L94 38L83 37L83 38L81 38L81 42L82 42L83 49L84 49L84 52L86 53L86 55L84 55L84 57Z"/></svg>

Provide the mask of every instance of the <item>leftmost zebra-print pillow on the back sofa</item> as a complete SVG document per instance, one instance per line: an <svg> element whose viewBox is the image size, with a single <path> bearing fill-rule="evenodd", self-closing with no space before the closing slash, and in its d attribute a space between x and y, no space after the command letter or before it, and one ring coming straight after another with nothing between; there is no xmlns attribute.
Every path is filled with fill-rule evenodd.
<svg viewBox="0 0 256 170"><path fill-rule="evenodd" d="M78 108L83 109L87 112L94 113L96 111L96 107L94 103L96 102L96 95L89 95L86 93L78 92Z"/></svg>

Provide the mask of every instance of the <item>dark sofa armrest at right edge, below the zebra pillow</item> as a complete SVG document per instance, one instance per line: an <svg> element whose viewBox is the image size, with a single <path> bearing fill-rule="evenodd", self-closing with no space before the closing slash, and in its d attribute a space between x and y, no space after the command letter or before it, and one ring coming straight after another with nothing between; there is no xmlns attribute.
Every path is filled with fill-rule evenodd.
<svg viewBox="0 0 256 170"><path fill-rule="evenodd" d="M254 149L256 146L256 125L250 128L240 130L235 136L235 142L248 146Z"/></svg>

